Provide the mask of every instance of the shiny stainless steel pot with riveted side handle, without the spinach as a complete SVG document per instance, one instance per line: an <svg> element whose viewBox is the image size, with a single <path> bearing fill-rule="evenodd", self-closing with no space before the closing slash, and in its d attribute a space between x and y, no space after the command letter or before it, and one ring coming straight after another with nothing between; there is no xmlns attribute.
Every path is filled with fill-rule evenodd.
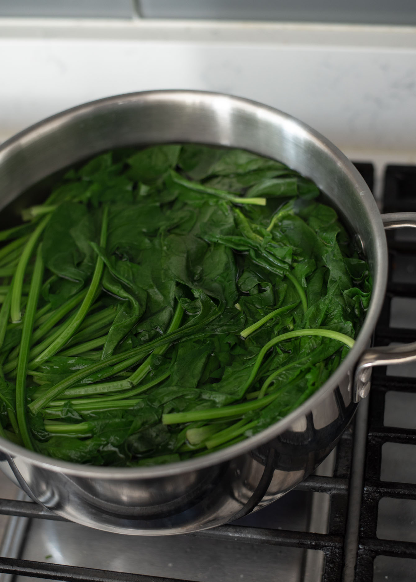
<svg viewBox="0 0 416 582"><path fill-rule="evenodd" d="M334 145L285 113L228 95L153 91L59 113L0 147L0 209L48 175L110 148L193 142L245 148L311 178L357 233L373 294L354 347L330 379L289 416L246 441L164 466L116 469L53 460L0 438L0 468L60 516L124 534L177 534L218 526L284 495L336 445L373 365L416 359L416 345L367 349L385 296L385 228L364 180ZM384 226L383 226L384 222Z"/></svg>

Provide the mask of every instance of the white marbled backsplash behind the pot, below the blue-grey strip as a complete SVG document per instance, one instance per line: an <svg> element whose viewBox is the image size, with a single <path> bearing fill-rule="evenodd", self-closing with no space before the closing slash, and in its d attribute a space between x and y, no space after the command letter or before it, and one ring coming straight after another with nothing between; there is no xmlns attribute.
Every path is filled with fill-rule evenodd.
<svg viewBox="0 0 416 582"><path fill-rule="evenodd" d="M158 88L248 97L355 159L416 163L416 27L0 19L0 139L85 101Z"/></svg>

